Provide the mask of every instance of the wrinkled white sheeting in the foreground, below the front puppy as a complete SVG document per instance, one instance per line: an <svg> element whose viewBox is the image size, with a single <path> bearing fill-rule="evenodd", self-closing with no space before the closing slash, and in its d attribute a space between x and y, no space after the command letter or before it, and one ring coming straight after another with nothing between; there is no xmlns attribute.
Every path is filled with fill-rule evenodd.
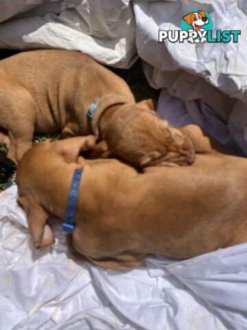
<svg viewBox="0 0 247 330"><path fill-rule="evenodd" d="M247 328L247 244L106 270L69 259L59 223L54 246L34 250L16 195L0 194L0 329Z"/></svg>

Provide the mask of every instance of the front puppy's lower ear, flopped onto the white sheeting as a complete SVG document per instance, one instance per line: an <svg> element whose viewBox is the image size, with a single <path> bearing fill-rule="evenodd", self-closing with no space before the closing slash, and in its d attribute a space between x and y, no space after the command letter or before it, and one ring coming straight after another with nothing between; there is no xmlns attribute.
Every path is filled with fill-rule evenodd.
<svg viewBox="0 0 247 330"><path fill-rule="evenodd" d="M45 248L54 243L54 234L46 224L48 214L32 196L19 197L18 203L23 206L27 215L28 229L32 236L34 248Z"/></svg>

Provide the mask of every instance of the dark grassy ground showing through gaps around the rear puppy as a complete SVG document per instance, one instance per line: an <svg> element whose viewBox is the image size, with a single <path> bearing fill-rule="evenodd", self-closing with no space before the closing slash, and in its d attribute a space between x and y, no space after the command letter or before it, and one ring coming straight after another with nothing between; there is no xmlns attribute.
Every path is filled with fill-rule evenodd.
<svg viewBox="0 0 247 330"><path fill-rule="evenodd" d="M0 50L0 59L11 56L15 53L16 52L13 50ZM121 76L121 78L126 80L126 83L128 83L128 85L130 86L137 102L144 100L145 98L152 98L154 102L156 102L158 98L158 91L148 85L148 82L143 74L141 60L138 60L136 63L134 63L134 65L132 65L132 67L128 70L113 69L110 67L109 69L113 70L115 74ZM52 137L54 137L54 135L57 136L58 133L53 133ZM45 140L47 137L50 136L50 134L37 135L34 137L34 142ZM1 144L0 150L4 151L5 153L7 152L6 148L4 146L1 146ZM10 173L8 172L8 170L6 170L6 168L0 164L0 190L4 190L7 187L7 181L9 177ZM12 179L14 179L14 173L12 173Z"/></svg>

